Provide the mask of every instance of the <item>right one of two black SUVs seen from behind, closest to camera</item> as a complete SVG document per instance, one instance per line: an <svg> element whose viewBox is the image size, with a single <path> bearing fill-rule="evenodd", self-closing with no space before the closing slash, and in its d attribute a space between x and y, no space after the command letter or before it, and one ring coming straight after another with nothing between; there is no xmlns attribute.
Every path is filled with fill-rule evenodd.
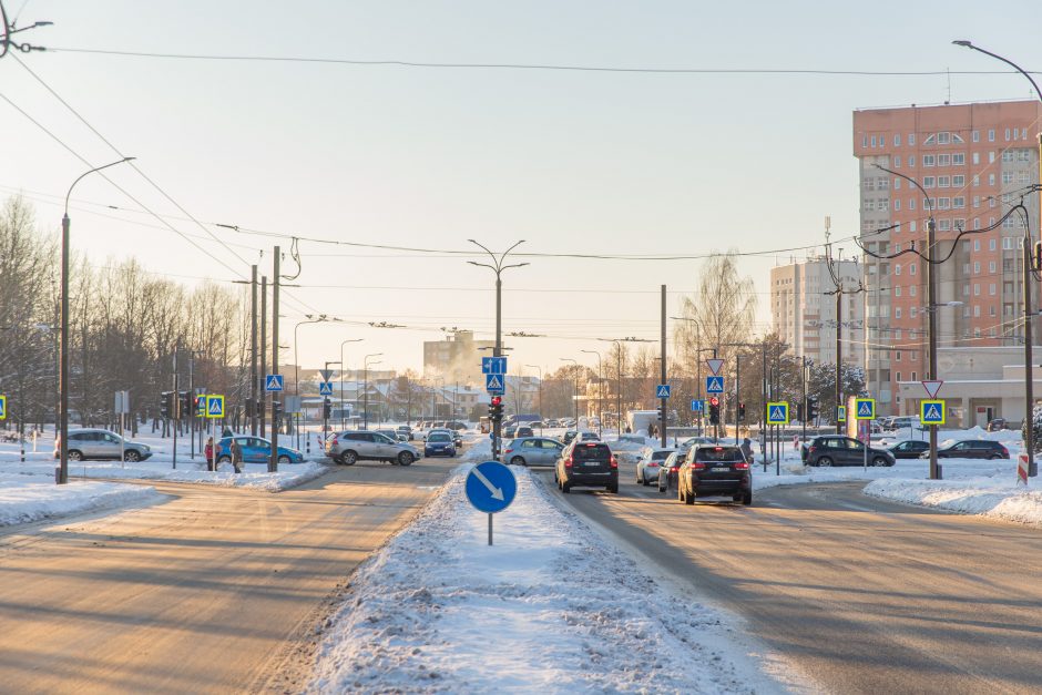
<svg viewBox="0 0 1042 695"><path fill-rule="evenodd" d="M692 447L676 472L676 497L685 504L694 504L699 497L753 503L753 470L735 444Z"/></svg>

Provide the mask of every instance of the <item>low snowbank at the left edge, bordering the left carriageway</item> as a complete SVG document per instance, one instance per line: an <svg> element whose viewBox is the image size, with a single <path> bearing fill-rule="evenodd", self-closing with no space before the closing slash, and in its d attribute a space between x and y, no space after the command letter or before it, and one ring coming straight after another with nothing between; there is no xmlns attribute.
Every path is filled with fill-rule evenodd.
<svg viewBox="0 0 1042 695"><path fill-rule="evenodd" d="M102 509L151 503L161 499L155 488L114 482L54 484L32 476L0 474L0 525L28 523Z"/></svg>

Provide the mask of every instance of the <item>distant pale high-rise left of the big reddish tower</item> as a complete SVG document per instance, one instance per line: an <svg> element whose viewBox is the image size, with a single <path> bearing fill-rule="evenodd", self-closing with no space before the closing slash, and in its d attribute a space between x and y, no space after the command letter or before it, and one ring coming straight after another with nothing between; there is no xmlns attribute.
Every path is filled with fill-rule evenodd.
<svg viewBox="0 0 1042 695"><path fill-rule="evenodd" d="M847 292L858 287L860 268L852 260L834 260L832 270ZM774 333L788 344L788 352L815 362L836 364L836 282L824 257L793 262L770 269L770 321ZM845 362L861 364L865 301L859 294L844 294ZM854 339L849 339L850 337Z"/></svg>

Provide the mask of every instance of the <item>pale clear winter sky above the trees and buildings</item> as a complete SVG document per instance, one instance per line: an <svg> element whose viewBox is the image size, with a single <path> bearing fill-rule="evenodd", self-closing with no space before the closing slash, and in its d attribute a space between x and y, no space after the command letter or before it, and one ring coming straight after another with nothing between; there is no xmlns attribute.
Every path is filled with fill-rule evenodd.
<svg viewBox="0 0 1042 695"><path fill-rule="evenodd" d="M418 369L422 341L442 328L491 337L494 277L467 263L489 259L471 238L493 251L524 239L508 263L530 265L502 275L503 328L545 337L507 339L511 372L561 358L595 367L582 350L606 350L599 338L657 340L660 285L671 316L683 296L712 300L694 294L702 258L728 249L756 254L740 267L758 293L749 336L762 334L769 268L820 253L826 216L834 241L858 229L854 110L1033 96L1015 74L766 71L1004 68L953 39L1042 69L1038 4L1020 0L1001 12L961 1L3 4L18 25L54 24L17 35L48 52L0 59L0 198L20 192L58 234L61 200L90 168L65 146L91 165L135 156L157 187L127 165L108 173L135 200L84 178L70 206L73 249L98 263L136 256L190 286L248 277L254 263L270 277L273 247L300 238L282 335L306 314L341 319L299 328L308 367L338 360L353 338L362 341L346 347L348 367L381 352L381 367ZM297 269L288 255L284 269Z"/></svg>

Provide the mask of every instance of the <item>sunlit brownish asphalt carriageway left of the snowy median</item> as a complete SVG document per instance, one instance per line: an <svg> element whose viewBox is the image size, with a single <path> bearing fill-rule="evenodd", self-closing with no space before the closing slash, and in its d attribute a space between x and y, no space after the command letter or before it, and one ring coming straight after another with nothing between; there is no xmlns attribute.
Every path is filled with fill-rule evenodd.
<svg viewBox="0 0 1042 695"><path fill-rule="evenodd" d="M0 691L299 691L348 574L458 463L360 462L276 494L160 483L165 503L7 530Z"/></svg>

